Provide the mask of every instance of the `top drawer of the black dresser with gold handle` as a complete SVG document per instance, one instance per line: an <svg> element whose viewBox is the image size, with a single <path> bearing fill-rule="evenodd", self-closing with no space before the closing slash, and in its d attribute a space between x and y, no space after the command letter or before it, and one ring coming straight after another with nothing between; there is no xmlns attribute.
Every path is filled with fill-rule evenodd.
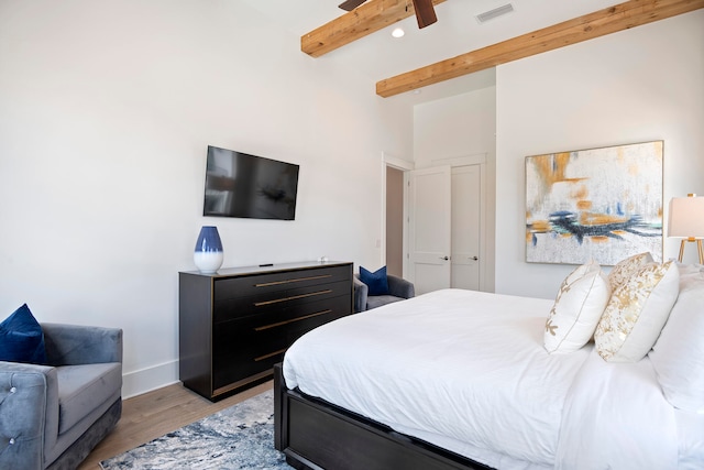
<svg viewBox="0 0 704 470"><path fill-rule="evenodd" d="M257 296L293 288L350 281L349 266L316 267L301 271L257 274L243 277L218 278L215 282L215 300Z"/></svg>

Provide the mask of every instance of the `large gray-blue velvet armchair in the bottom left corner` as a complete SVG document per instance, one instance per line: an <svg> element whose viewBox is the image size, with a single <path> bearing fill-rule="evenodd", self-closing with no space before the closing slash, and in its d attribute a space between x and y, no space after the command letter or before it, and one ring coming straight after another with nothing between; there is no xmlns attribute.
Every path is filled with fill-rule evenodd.
<svg viewBox="0 0 704 470"><path fill-rule="evenodd" d="M76 469L122 414L122 330L42 324L51 365L0 361L0 469Z"/></svg>

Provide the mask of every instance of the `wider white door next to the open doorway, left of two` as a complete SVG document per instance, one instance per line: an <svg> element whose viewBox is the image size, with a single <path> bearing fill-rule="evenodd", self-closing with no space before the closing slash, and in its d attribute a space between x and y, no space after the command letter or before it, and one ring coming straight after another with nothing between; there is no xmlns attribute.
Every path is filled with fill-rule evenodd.
<svg viewBox="0 0 704 470"><path fill-rule="evenodd" d="M409 173L408 278L416 295L450 286L451 170Z"/></svg>

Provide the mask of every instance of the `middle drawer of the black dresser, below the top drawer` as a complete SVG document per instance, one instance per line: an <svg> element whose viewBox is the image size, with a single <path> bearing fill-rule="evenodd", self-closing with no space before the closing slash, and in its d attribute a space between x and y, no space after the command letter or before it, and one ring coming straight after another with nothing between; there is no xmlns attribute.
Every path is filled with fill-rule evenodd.
<svg viewBox="0 0 704 470"><path fill-rule="evenodd" d="M216 300L213 307L213 323L219 324L237 318L266 314L270 310L282 310L296 305L326 298L350 296L352 294L349 281L330 284L318 284L288 288L278 292L264 292L241 298ZM352 306L348 307L351 311Z"/></svg>

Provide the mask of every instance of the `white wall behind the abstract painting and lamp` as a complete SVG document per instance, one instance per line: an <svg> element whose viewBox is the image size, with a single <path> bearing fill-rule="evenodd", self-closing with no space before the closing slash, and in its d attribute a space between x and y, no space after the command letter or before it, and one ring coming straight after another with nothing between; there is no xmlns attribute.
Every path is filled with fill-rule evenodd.
<svg viewBox="0 0 704 470"><path fill-rule="evenodd" d="M663 140L666 223L670 198L704 194L703 24L700 10L497 68L496 292L553 298L574 269L525 262L526 155ZM664 258L678 250L666 238Z"/></svg>

